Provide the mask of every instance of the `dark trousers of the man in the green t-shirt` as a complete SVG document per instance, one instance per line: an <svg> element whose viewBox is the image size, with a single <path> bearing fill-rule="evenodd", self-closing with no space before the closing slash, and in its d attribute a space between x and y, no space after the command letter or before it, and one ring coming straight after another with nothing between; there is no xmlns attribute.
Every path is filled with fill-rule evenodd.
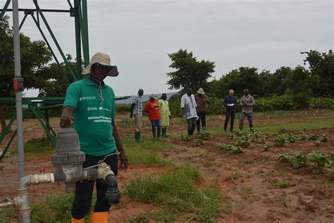
<svg viewBox="0 0 334 223"><path fill-rule="evenodd" d="M83 168L90 167L97 164L104 156L93 157L91 155L86 155L86 161L83 164ZM111 170L117 175L118 172L118 156L112 155L106 157L104 160L106 164L111 167ZM94 191L95 181L78 181L75 183L75 198L72 205L72 217L75 219L82 219L87 215L92 205L92 195ZM99 179L96 181L97 188L97 203L95 203L94 212L108 212L111 205L109 205L108 200L106 200L106 190L108 186L106 183Z"/></svg>

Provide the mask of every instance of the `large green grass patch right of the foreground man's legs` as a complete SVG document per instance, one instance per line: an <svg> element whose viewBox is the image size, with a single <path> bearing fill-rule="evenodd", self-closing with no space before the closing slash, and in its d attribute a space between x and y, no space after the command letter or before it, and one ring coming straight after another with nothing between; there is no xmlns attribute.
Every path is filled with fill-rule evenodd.
<svg viewBox="0 0 334 223"><path fill-rule="evenodd" d="M125 185L125 193L133 200L162 205L166 213L192 213L188 216L190 219L211 222L221 210L223 196L213 187L197 188L195 181L199 179L202 174L187 164L155 177L135 176Z"/></svg>

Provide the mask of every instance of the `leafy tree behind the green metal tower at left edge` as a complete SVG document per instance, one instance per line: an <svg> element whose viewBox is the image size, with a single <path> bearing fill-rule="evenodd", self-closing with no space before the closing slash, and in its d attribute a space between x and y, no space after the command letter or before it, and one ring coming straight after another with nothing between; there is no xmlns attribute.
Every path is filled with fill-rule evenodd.
<svg viewBox="0 0 334 223"><path fill-rule="evenodd" d="M8 16L0 20L0 61L3 61L8 49L12 48L13 32L9 27ZM21 74L24 78L25 89L42 88L47 85L51 76L42 72L49 61L51 61L51 52L42 41L31 41L22 33L20 34L20 56L21 56ZM0 67L0 97L13 97L13 77L14 77L14 55L13 51L9 53L4 66ZM51 74L49 74L51 75ZM6 107L1 105L1 127L2 131L6 128L5 113Z"/></svg>

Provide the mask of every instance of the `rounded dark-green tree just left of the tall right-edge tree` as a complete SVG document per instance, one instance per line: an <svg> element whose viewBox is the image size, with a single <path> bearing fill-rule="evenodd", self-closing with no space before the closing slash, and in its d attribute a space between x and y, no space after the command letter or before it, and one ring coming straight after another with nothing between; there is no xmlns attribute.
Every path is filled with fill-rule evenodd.
<svg viewBox="0 0 334 223"><path fill-rule="evenodd" d="M312 85L317 85L316 77L302 66L297 66L285 79L286 93L292 95L292 100L299 103L302 109L309 108L309 100L312 97Z"/></svg>

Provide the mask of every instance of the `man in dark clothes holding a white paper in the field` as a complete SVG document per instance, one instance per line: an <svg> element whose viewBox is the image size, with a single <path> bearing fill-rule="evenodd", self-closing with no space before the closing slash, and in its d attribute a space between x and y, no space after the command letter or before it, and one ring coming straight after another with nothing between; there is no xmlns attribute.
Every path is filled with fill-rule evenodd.
<svg viewBox="0 0 334 223"><path fill-rule="evenodd" d="M228 96L225 97L223 104L225 105L225 124L224 132L228 129L228 121L230 121L230 132L233 132L233 124L235 118L235 109L237 107L237 97L234 96L234 90L228 91Z"/></svg>

